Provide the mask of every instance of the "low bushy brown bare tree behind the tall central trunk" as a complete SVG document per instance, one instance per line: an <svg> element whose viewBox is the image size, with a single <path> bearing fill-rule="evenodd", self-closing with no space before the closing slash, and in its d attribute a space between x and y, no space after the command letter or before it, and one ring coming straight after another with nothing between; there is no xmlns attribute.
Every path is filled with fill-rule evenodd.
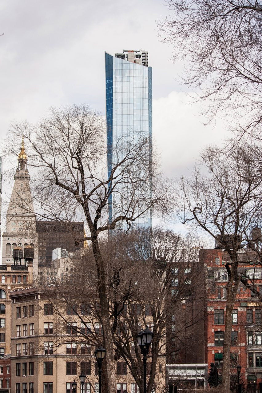
<svg viewBox="0 0 262 393"><path fill-rule="evenodd" d="M126 364L131 382L136 382L140 391L143 390L143 362L137 333L141 328L148 325L154 334L148 356L148 393L153 387L165 391L167 346L176 358L185 347L191 351L191 358L200 347L203 352L203 337L202 346L200 343L196 346L196 341L191 343L192 333L195 333L192 327L203 325L205 310L199 247L198 239L192 235L183 237L160 228L139 229L125 237L110 237L100 243L106 269L114 358ZM49 269L46 272L49 279L42 285L59 316L58 334L53 341L57 347L70 342L85 342L91 347L104 344L105 338L99 329L102 319L93 253L86 250L85 255L75 257L70 266L74 268L71 273L69 264L67 270L60 267L62 275ZM50 284L55 287L54 291L50 290ZM192 305L195 312L191 315ZM72 315L69 315L70 310L73 310ZM59 334L63 331L71 331L72 335ZM174 349L174 340L177 349Z"/></svg>

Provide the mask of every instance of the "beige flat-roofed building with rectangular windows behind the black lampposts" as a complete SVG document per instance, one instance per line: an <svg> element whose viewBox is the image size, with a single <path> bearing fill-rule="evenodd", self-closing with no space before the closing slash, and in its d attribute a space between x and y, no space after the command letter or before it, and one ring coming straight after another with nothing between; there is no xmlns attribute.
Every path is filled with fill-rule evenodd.
<svg viewBox="0 0 262 393"><path fill-rule="evenodd" d="M52 287L50 287L52 290ZM95 347L85 334L103 334L99 322L89 321L81 309L82 323L74 310L65 307L64 318L55 312L55 307L38 288L16 291L10 295L12 301L11 323L11 393L72 393L72 382L79 375L87 375L84 393L98 392L98 372ZM148 316L148 318L150 318ZM147 318L147 319L148 319ZM149 323L149 321L148 321ZM101 338L101 342L102 342ZM148 360L150 361L150 360ZM118 393L136 393L137 385L132 379L126 362L118 358L115 362ZM165 387L165 356L159 356L157 365L158 389Z"/></svg>

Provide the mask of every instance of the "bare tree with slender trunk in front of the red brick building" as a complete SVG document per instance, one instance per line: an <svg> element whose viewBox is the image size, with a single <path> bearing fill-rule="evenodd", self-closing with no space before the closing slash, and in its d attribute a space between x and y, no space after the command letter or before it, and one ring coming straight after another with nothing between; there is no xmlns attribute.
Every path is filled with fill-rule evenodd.
<svg viewBox="0 0 262 393"><path fill-rule="evenodd" d="M191 179L181 179L181 219L205 230L229 255L225 263L228 282L223 348L226 389L230 384L231 313L240 283L238 252L250 242L251 227L261 220L262 179L256 154L258 151L248 146L236 149L230 157L223 150L208 148L202 153L203 171L198 165Z"/></svg>

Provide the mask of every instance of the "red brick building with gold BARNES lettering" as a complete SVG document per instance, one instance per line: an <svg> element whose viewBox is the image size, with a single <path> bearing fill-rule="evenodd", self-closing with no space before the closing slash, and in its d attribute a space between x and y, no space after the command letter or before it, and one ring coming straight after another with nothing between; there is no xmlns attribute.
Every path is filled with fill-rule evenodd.
<svg viewBox="0 0 262 393"><path fill-rule="evenodd" d="M258 292L262 293L262 270L255 252L243 249L238 253L238 273L254 278ZM202 249L199 260L206 268L207 317L205 323L205 358L214 362L219 372L223 364L227 271L229 255L220 249ZM249 277L249 278L248 278ZM262 303L256 295L240 283L232 312L231 381L236 381L236 365L240 364L243 382L262 382Z"/></svg>

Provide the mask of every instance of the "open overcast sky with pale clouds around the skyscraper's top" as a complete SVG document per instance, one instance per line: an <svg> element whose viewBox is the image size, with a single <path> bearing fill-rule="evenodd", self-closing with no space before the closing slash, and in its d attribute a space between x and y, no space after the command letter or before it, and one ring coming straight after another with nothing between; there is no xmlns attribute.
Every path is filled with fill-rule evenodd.
<svg viewBox="0 0 262 393"><path fill-rule="evenodd" d="M104 51L148 51L153 70L153 134L163 172L192 167L203 146L224 138L222 123L203 126L185 105L176 77L181 64L160 42L161 0L2 0L0 2L1 129L12 120L36 121L50 106L88 103L105 113Z"/></svg>

